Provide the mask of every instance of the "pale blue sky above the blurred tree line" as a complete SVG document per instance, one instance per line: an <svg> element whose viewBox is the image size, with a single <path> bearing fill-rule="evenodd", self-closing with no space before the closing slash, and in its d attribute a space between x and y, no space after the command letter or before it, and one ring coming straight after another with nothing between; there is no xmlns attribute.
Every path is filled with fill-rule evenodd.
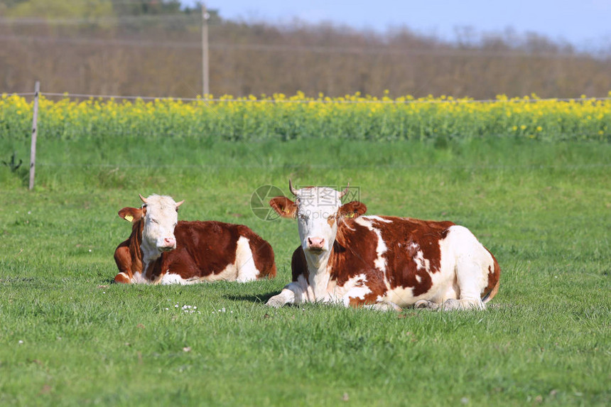
<svg viewBox="0 0 611 407"><path fill-rule="evenodd" d="M183 0L195 4L197 0ZM223 18L291 23L333 21L384 32L407 26L417 33L453 40L457 27L477 33L540 33L578 48L611 46L611 0L207 0Z"/></svg>

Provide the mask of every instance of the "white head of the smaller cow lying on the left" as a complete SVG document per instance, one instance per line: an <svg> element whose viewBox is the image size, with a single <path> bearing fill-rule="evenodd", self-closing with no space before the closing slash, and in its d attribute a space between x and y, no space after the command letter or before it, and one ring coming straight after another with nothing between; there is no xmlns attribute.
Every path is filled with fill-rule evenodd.
<svg viewBox="0 0 611 407"><path fill-rule="evenodd" d="M184 200L174 202L172 197L151 195L140 199L144 227L142 229L142 244L148 250L168 251L176 248L174 228L178 223L178 207Z"/></svg>

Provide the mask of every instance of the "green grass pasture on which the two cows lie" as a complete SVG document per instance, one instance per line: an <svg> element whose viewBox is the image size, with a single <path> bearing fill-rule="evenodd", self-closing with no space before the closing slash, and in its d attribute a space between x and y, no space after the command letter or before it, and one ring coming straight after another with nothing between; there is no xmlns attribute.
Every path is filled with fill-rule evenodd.
<svg viewBox="0 0 611 407"><path fill-rule="evenodd" d="M0 139L11 151L27 161L27 141ZM36 174L28 192L26 169L0 165L2 406L611 403L609 143L43 138ZM288 178L469 227L497 256L499 294L483 312L266 308L298 234L249 202ZM112 284L130 230L117 211L153 192L186 200L180 219L252 227L277 278Z"/></svg>

